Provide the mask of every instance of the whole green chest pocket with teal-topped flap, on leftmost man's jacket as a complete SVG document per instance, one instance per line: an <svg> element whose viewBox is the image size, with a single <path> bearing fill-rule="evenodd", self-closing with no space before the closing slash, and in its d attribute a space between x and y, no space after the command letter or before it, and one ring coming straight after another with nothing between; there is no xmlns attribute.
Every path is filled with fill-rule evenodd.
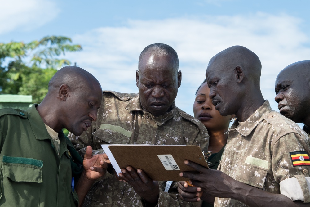
<svg viewBox="0 0 310 207"><path fill-rule="evenodd" d="M3 156L0 205L23 206L21 200L27 198L25 205L39 206L42 167L41 160Z"/></svg>

